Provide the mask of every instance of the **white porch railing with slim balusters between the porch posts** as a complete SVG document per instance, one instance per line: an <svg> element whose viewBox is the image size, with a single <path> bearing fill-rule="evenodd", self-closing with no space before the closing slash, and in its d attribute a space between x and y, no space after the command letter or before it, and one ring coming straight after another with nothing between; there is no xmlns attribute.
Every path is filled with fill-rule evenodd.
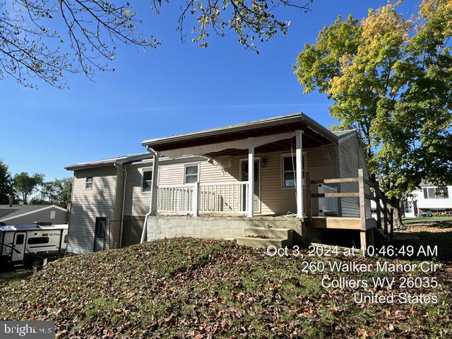
<svg viewBox="0 0 452 339"><path fill-rule="evenodd" d="M157 187L157 213L246 214L248 182L220 182Z"/></svg>

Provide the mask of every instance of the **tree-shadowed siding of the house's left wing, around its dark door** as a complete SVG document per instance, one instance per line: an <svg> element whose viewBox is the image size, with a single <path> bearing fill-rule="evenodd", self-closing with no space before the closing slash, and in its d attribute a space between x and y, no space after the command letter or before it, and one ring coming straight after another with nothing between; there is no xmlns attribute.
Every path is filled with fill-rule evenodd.
<svg viewBox="0 0 452 339"><path fill-rule="evenodd" d="M86 177L93 177L93 189L85 189ZM114 220L116 186L115 167L82 169L74 172L68 240L68 247L72 251L93 251L96 217ZM106 235L108 237L108 232ZM106 248L108 246L109 241L106 239Z"/></svg>

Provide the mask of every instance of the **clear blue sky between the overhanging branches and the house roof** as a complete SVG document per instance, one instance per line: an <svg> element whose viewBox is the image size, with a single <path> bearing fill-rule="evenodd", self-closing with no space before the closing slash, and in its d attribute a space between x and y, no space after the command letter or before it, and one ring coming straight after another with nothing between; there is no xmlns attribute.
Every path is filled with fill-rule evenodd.
<svg viewBox="0 0 452 339"><path fill-rule="evenodd" d="M307 14L285 10L291 20L287 36L262 44L259 55L246 51L232 33L212 37L210 47L201 49L191 43L189 25L182 43L176 32L179 6L165 5L156 17L150 1L143 3L136 8L146 16L143 32L156 35L162 46L147 52L119 47L114 73L101 73L94 82L69 76L66 90L0 81L0 159L13 174L68 177L65 165L139 153L146 138L299 111L328 126L334 122L328 100L302 93L292 70L295 58L338 15L362 18L386 1L314 0ZM405 1L401 9L413 13L418 4Z"/></svg>

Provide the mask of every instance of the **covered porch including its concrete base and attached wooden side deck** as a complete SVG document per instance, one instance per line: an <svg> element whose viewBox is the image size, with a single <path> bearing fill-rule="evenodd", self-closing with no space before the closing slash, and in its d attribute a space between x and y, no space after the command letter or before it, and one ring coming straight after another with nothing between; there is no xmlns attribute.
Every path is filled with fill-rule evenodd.
<svg viewBox="0 0 452 339"><path fill-rule="evenodd" d="M370 209L366 215L369 187L362 169L341 178L338 144L338 136L304 114L144 141L155 155L148 234L248 243L255 232L273 239L290 229L309 242L328 229L353 232L366 246L376 226ZM159 166L162 156L202 160L181 167L184 181L173 184L176 170ZM356 215L343 214L344 199ZM294 234L277 240L287 244Z"/></svg>

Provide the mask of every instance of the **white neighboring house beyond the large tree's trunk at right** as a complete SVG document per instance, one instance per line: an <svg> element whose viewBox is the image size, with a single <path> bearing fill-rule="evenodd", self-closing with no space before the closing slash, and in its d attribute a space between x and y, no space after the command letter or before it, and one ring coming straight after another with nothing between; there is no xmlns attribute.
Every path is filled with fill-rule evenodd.
<svg viewBox="0 0 452 339"><path fill-rule="evenodd" d="M444 188L432 184L421 184L403 201L405 217L415 217L427 212L452 213L452 186Z"/></svg>

